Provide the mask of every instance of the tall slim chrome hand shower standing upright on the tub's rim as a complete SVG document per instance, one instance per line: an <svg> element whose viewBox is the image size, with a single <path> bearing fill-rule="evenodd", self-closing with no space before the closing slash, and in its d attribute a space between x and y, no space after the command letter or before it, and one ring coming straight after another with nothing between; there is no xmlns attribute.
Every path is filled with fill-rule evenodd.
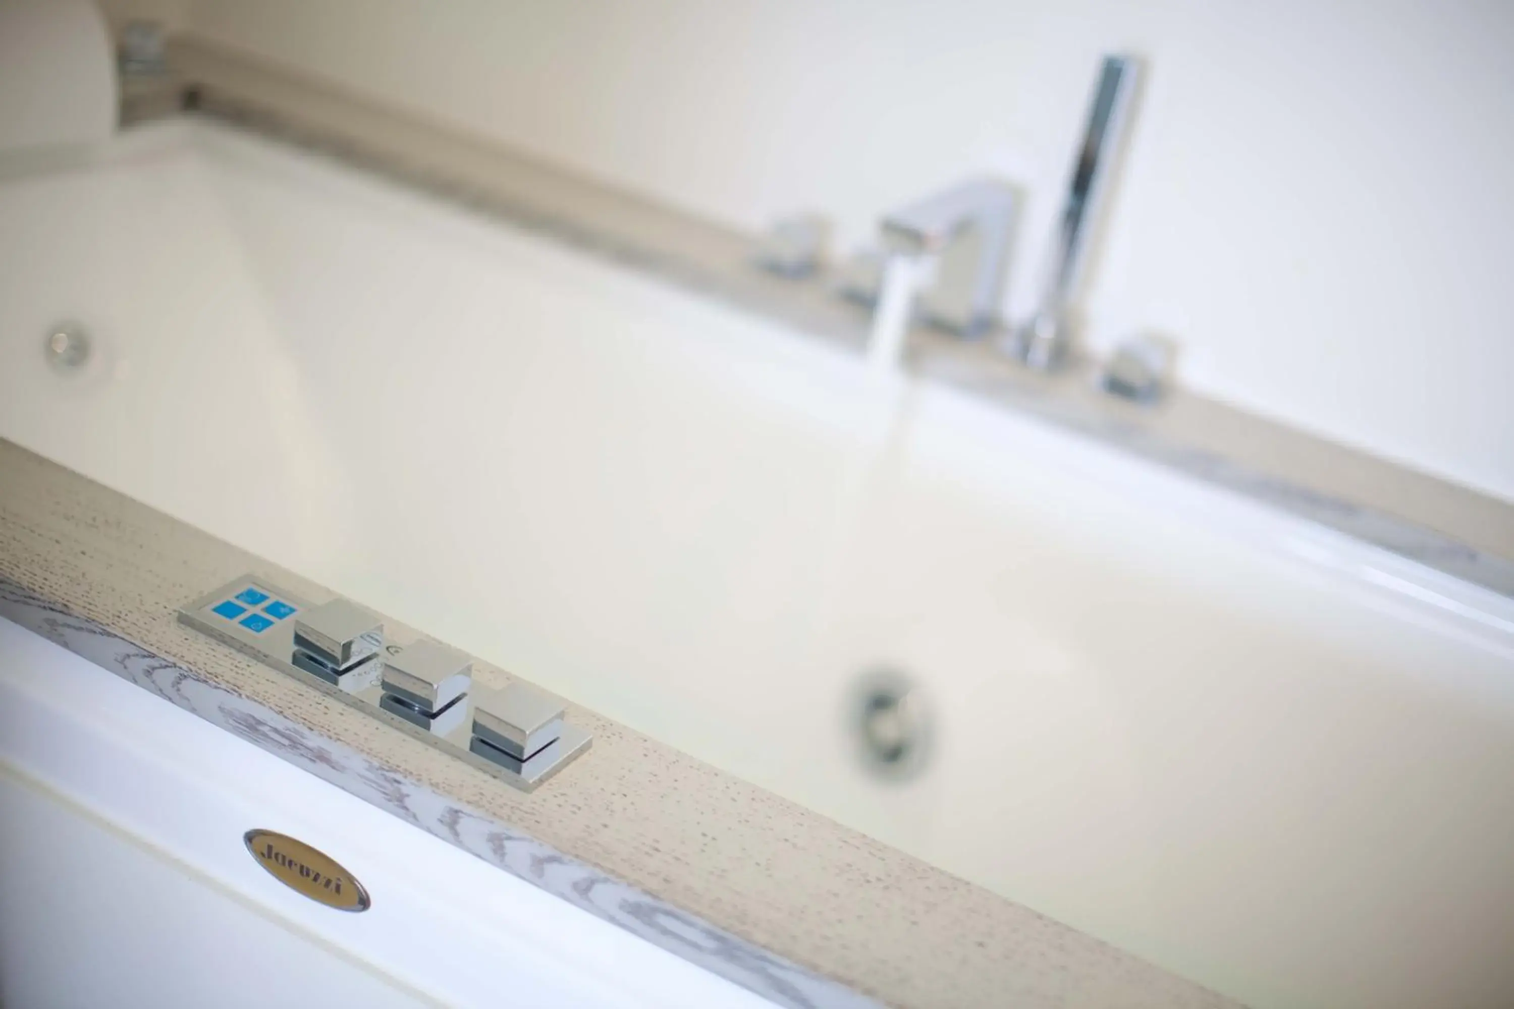
<svg viewBox="0 0 1514 1009"><path fill-rule="evenodd" d="M1045 289L1036 313L1010 337L1008 351L1031 368L1048 371L1073 340L1072 301L1087 266L1089 231L1108 192L1113 162L1123 145L1140 79L1132 56L1105 56L1089 104L1089 123L1072 166L1067 198L1057 219Z"/></svg>

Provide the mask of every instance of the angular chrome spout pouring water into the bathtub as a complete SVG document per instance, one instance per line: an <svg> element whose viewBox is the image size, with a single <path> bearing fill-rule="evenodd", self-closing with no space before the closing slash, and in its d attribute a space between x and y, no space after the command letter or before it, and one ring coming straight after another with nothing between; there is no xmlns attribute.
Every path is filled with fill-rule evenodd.
<svg viewBox="0 0 1514 1009"><path fill-rule="evenodd" d="M892 254L939 256L934 286L921 296L927 322L980 336L999 318L1017 201L989 179L966 182L883 219Z"/></svg>

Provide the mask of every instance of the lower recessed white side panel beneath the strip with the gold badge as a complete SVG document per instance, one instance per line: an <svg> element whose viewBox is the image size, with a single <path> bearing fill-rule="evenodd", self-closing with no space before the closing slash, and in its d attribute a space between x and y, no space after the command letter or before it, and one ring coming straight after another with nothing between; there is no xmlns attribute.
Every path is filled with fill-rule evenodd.
<svg viewBox="0 0 1514 1009"><path fill-rule="evenodd" d="M439 1004L0 765L0 995L51 1006Z"/></svg>

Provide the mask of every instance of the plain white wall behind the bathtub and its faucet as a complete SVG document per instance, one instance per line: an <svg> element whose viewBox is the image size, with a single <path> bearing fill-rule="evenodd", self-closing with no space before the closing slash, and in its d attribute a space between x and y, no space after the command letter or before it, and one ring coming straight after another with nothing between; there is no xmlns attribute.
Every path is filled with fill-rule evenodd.
<svg viewBox="0 0 1514 1009"><path fill-rule="evenodd" d="M186 21L746 228L818 209L852 244L1001 172L1030 192L1013 312L1096 59L1142 53L1090 342L1164 330L1204 392L1514 501L1514 5L194 0Z"/></svg>

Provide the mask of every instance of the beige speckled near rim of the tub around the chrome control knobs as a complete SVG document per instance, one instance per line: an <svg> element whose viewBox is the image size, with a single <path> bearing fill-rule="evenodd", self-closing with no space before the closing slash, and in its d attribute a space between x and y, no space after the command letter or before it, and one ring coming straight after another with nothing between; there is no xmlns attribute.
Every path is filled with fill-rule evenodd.
<svg viewBox="0 0 1514 1009"><path fill-rule="evenodd" d="M0 440L0 616L777 1004L1234 1004L575 705L518 793L177 622L245 570L332 595Z"/></svg>

